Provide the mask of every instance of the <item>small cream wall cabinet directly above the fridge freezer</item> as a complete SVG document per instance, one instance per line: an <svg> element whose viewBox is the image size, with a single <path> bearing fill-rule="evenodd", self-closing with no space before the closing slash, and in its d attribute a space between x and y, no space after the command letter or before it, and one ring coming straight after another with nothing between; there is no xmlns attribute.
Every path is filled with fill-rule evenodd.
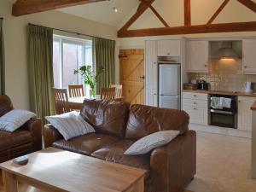
<svg viewBox="0 0 256 192"><path fill-rule="evenodd" d="M157 41L158 56L180 56L181 41L180 40L159 40Z"/></svg>

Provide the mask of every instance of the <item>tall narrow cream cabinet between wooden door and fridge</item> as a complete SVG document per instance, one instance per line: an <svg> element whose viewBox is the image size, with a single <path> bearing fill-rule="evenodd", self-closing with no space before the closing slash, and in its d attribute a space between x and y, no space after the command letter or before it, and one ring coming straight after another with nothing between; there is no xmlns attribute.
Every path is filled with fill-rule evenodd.
<svg viewBox="0 0 256 192"><path fill-rule="evenodd" d="M146 41L145 46L145 86L146 105L157 107L158 90L157 42Z"/></svg>

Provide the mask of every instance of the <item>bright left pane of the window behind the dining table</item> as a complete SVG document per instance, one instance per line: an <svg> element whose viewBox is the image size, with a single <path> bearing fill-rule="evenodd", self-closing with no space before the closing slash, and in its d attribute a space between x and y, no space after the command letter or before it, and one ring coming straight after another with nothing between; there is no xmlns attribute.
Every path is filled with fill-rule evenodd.
<svg viewBox="0 0 256 192"><path fill-rule="evenodd" d="M74 69L78 69L83 46L78 44L63 43L63 88L69 84L79 84L78 75L73 74Z"/></svg>

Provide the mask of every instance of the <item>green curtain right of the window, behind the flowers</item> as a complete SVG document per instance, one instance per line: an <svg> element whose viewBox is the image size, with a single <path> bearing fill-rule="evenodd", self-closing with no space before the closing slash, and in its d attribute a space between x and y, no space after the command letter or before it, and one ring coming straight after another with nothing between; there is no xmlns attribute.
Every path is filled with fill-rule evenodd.
<svg viewBox="0 0 256 192"><path fill-rule="evenodd" d="M96 84L96 93L100 94L102 87L108 87L109 84L114 84L114 53L115 53L115 41L94 38L94 51L96 70L103 67L104 73L99 78L99 82Z"/></svg>

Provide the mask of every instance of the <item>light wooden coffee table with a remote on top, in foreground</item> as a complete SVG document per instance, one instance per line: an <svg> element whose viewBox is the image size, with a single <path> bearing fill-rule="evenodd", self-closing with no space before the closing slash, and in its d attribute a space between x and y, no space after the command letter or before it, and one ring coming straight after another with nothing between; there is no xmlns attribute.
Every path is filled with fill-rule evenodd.
<svg viewBox="0 0 256 192"><path fill-rule="evenodd" d="M143 192L145 170L98 160L57 148L29 154L25 166L0 164L5 192L18 192L18 182L44 191Z"/></svg>

